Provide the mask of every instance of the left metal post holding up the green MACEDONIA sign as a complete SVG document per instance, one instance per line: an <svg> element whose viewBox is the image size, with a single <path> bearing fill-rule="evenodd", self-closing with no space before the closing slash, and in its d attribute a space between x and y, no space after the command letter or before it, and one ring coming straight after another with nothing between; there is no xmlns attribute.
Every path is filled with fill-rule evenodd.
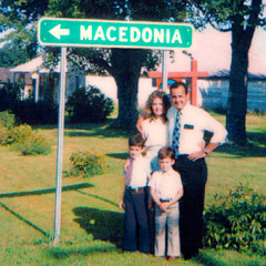
<svg viewBox="0 0 266 266"><path fill-rule="evenodd" d="M57 245L59 242L60 224L61 224L65 69L66 69L66 47L62 47L61 48L61 70L60 70L60 98L59 98L59 131L58 131L57 192L55 192L55 213L54 213L54 245Z"/></svg>

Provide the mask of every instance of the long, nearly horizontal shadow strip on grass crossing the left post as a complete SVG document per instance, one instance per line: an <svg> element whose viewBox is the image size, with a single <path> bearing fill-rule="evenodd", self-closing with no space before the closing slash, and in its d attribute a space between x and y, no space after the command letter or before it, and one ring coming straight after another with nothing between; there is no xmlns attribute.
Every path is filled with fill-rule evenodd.
<svg viewBox="0 0 266 266"><path fill-rule="evenodd" d="M94 186L94 185L89 184L89 183L81 183L81 184L75 184L75 185L63 186L62 191L63 192L75 191L75 190L86 188L86 187L92 187L92 186ZM55 187L39 190L39 191L2 193L2 194L0 194L0 198L1 197L32 196L32 195L42 195L42 194L50 194L50 193L55 193Z"/></svg>

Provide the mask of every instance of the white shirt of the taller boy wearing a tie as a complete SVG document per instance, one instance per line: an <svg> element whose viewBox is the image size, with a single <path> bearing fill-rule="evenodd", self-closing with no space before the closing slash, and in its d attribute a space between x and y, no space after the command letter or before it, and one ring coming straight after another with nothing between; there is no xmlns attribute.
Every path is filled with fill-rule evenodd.
<svg viewBox="0 0 266 266"><path fill-rule="evenodd" d="M140 155L134 158L134 165L132 170L131 188L145 187L147 185L149 175L151 173L150 162Z"/></svg>

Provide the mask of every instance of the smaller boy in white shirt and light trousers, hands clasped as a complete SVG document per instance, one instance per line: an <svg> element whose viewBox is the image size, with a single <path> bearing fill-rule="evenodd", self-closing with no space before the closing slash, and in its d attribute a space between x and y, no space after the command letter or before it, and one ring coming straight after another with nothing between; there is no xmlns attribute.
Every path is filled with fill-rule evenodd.
<svg viewBox="0 0 266 266"><path fill-rule="evenodd" d="M167 232L167 260L181 256L180 248L180 208L183 196L180 174L173 170L174 151L162 147L158 151L160 171L153 173L149 186L156 204L155 208L155 256L165 256L165 234Z"/></svg>

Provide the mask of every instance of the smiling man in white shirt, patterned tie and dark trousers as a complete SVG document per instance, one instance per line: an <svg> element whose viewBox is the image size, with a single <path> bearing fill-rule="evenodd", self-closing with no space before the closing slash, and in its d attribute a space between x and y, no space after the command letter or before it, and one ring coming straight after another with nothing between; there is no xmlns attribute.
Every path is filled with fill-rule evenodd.
<svg viewBox="0 0 266 266"><path fill-rule="evenodd" d="M185 259L202 247L203 211L207 167L204 157L225 142L227 131L206 111L190 104L190 93L183 82L171 86L172 108L167 113L168 145L175 151L173 166L181 174L184 196L181 200L181 252ZM213 136L203 146L204 132Z"/></svg>

